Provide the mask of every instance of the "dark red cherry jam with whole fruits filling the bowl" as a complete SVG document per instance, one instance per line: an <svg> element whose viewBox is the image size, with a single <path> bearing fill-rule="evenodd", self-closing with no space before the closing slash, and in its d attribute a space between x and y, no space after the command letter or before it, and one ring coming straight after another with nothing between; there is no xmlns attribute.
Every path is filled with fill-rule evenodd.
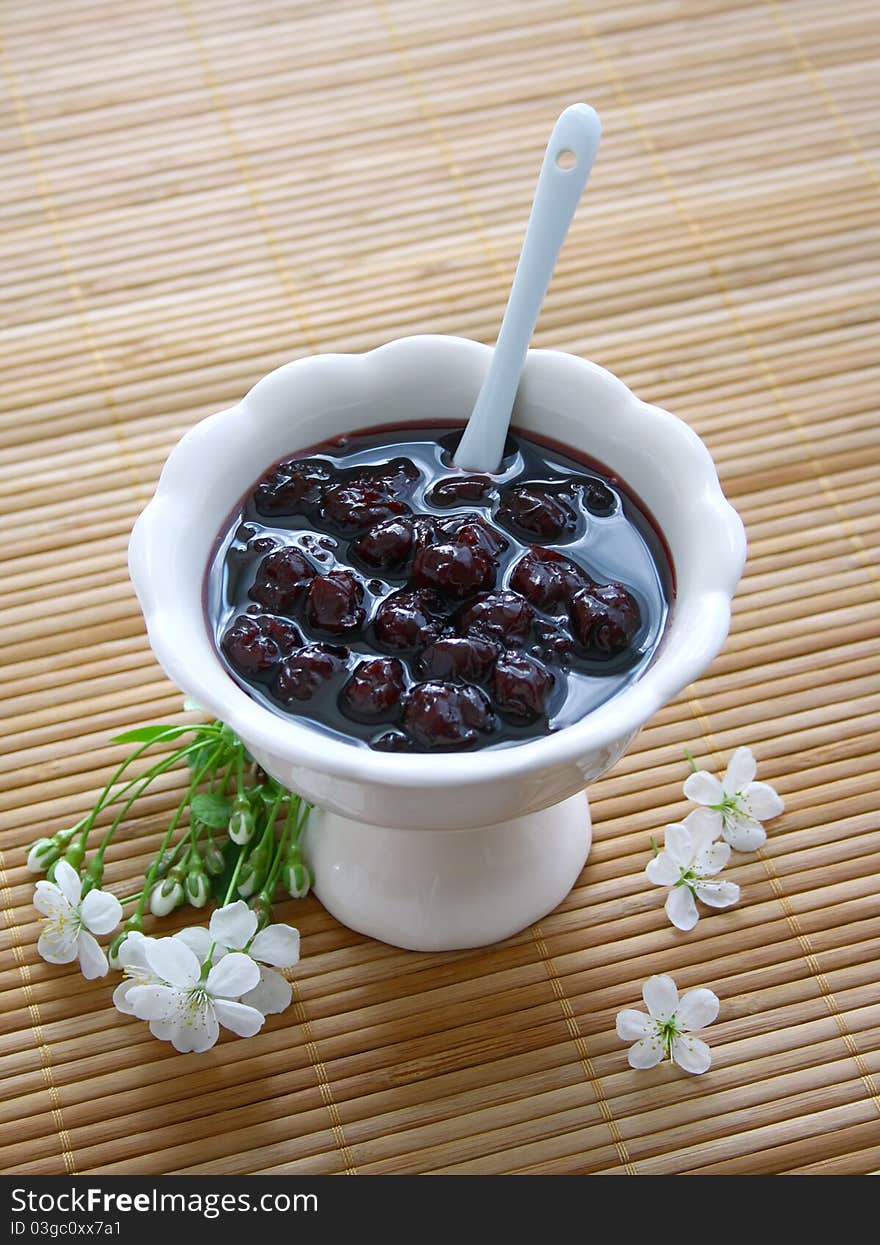
<svg viewBox="0 0 880 1245"><path fill-rule="evenodd" d="M251 696L352 743L438 752L559 731L637 679L671 595L648 518L519 435L498 473L457 472L459 436L342 437L258 481L207 583Z"/></svg>

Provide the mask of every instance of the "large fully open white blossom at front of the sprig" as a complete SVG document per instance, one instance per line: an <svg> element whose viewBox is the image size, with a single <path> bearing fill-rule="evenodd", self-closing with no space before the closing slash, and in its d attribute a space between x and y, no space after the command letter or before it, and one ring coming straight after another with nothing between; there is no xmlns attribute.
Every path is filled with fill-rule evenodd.
<svg viewBox="0 0 880 1245"><path fill-rule="evenodd" d="M220 1025L239 1037L260 1030L261 1012L239 1002L260 979L249 955L227 955L203 976L198 956L180 939L144 939L142 946L153 981L132 986L124 1002L149 1021L153 1037L183 1053L210 1050Z"/></svg>

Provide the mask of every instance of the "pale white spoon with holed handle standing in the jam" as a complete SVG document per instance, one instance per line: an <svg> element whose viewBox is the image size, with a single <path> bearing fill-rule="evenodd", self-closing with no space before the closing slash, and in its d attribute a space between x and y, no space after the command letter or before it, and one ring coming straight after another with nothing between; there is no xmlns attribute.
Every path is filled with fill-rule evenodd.
<svg viewBox="0 0 880 1245"><path fill-rule="evenodd" d="M456 451L464 471L493 472L502 461L531 334L600 137L587 103L573 103L553 127L495 351Z"/></svg>

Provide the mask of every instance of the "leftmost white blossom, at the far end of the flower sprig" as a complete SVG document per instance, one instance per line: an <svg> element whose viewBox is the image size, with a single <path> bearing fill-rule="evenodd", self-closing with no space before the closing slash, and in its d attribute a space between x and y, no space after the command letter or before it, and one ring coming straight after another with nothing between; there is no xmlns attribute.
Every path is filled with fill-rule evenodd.
<svg viewBox="0 0 880 1245"><path fill-rule="evenodd" d="M82 881L67 860L55 867L55 881L37 881L34 906L46 918L37 951L50 964L80 961L83 977L102 977L107 956L93 934L110 934L122 919L122 905L105 890L82 895Z"/></svg>

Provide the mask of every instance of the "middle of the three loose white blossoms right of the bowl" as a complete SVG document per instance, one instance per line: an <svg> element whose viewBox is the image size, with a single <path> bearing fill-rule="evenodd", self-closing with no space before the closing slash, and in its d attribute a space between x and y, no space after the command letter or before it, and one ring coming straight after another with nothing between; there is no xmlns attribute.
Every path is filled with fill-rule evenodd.
<svg viewBox="0 0 880 1245"><path fill-rule="evenodd" d="M739 899L734 881L709 881L731 858L727 843L714 843L714 824L707 809L688 813L683 824L667 825L663 850L645 873L655 886L670 886L666 915L680 930L692 930L700 920L696 899L709 908L729 908Z"/></svg>

